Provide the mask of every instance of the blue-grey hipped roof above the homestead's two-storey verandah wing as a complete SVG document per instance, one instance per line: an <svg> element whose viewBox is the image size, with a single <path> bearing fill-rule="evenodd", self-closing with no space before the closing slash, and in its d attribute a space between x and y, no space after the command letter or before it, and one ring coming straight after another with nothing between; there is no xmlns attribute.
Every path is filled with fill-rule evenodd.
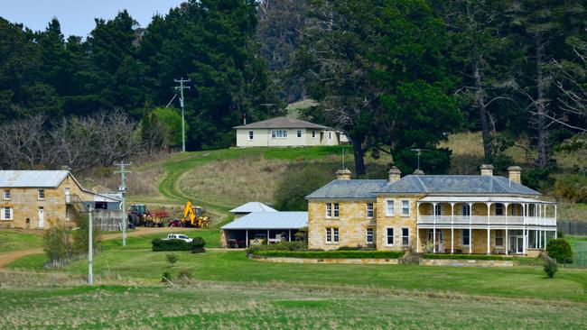
<svg viewBox="0 0 587 330"><path fill-rule="evenodd" d="M541 195L507 178L481 175L408 175L377 193Z"/></svg>

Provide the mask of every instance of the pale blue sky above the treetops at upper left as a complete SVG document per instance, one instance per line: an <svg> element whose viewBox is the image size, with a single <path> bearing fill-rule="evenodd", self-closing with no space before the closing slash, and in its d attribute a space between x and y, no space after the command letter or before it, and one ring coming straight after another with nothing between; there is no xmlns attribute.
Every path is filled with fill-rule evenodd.
<svg viewBox="0 0 587 330"><path fill-rule="evenodd" d="M185 0L183 0L185 1ZM33 31L45 30L57 17L61 32L87 37L94 18L112 19L123 9L146 27L154 14L167 14L182 0L0 0L0 16L13 23L23 23Z"/></svg>

